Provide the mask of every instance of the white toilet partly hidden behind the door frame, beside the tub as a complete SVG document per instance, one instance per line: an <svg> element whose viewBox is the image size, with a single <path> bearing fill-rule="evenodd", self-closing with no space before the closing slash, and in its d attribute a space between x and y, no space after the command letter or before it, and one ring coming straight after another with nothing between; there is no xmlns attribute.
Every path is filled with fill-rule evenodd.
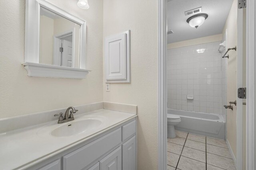
<svg viewBox="0 0 256 170"><path fill-rule="evenodd" d="M181 121L180 116L173 115L170 113L167 114L167 137L168 138L176 137L174 125L178 125L180 121Z"/></svg>

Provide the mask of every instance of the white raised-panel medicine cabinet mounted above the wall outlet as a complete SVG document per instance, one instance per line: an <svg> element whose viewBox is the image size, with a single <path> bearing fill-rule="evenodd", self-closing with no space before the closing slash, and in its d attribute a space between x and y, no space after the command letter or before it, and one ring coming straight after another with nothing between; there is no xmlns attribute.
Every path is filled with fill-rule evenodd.
<svg viewBox="0 0 256 170"><path fill-rule="evenodd" d="M130 31L105 40L107 82L130 82Z"/></svg>

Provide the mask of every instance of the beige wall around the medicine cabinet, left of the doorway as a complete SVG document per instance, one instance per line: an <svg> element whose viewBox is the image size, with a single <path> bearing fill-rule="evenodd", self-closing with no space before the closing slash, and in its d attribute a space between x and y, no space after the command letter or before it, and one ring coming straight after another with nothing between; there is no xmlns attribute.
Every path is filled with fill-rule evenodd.
<svg viewBox="0 0 256 170"><path fill-rule="evenodd" d="M131 30L131 83L111 83L110 92L104 88L103 98L107 102L138 105L138 170L156 170L158 0L104 0L104 37L128 29Z"/></svg>

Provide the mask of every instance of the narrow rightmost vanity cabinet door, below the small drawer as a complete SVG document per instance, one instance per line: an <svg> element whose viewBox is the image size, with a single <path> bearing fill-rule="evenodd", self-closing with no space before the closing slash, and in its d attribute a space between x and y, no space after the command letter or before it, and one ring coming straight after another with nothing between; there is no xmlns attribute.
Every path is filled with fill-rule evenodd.
<svg viewBox="0 0 256 170"><path fill-rule="evenodd" d="M123 170L136 170L136 136L122 145Z"/></svg>

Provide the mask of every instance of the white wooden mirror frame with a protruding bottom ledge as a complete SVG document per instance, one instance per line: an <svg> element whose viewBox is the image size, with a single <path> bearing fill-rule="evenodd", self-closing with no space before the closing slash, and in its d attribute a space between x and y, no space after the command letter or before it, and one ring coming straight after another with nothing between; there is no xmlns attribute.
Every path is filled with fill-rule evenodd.
<svg viewBox="0 0 256 170"><path fill-rule="evenodd" d="M80 28L80 68L39 63L40 7L46 8L74 23ZM86 21L65 12L44 0L26 0L24 68L28 76L56 78L85 78L86 70Z"/></svg>

